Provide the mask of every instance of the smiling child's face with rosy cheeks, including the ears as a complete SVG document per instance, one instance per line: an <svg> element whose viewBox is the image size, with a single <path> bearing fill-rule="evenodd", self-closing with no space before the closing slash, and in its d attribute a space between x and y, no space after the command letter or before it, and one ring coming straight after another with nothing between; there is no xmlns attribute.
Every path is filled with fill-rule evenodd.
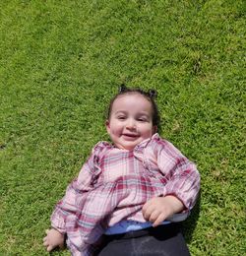
<svg viewBox="0 0 246 256"><path fill-rule="evenodd" d="M153 125L152 103L139 94L118 96L106 121L106 129L117 148L133 150L157 130Z"/></svg>

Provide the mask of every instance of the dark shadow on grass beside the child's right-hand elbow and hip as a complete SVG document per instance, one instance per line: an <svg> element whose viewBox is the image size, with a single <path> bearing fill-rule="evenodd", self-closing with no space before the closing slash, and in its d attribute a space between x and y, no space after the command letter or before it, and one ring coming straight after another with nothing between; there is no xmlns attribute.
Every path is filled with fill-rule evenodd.
<svg viewBox="0 0 246 256"><path fill-rule="evenodd" d="M197 226L197 222L200 215L200 204L201 204L201 192L199 194L197 203L193 208L190 217L187 221L182 224L182 233L185 237L185 241L190 243L192 241L193 232Z"/></svg>

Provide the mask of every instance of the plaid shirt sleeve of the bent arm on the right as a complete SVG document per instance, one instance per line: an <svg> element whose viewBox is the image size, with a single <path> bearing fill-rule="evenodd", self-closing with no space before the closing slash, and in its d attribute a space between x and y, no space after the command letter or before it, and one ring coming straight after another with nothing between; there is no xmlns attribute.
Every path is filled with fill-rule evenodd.
<svg viewBox="0 0 246 256"><path fill-rule="evenodd" d="M190 211L200 190L200 174L196 165L166 140L157 140L157 165L166 178L164 195L177 197Z"/></svg>

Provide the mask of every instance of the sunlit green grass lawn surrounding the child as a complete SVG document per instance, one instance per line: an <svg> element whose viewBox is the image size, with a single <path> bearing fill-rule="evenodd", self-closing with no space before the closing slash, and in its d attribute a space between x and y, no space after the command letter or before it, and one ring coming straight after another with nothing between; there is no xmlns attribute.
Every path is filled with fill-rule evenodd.
<svg viewBox="0 0 246 256"><path fill-rule="evenodd" d="M161 136L198 164L192 255L244 255L245 26L243 0L1 1L0 255L48 255L121 83L157 90Z"/></svg>

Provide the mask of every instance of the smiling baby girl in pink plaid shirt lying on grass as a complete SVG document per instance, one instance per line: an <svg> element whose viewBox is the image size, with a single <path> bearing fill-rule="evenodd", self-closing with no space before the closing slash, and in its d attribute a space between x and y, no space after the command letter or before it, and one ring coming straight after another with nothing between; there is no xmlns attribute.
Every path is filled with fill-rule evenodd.
<svg viewBox="0 0 246 256"><path fill-rule="evenodd" d="M200 175L156 133L154 96L122 86L111 99L113 144L97 143L68 186L43 239L47 251L66 240L72 255L189 255L176 223L194 207Z"/></svg>

